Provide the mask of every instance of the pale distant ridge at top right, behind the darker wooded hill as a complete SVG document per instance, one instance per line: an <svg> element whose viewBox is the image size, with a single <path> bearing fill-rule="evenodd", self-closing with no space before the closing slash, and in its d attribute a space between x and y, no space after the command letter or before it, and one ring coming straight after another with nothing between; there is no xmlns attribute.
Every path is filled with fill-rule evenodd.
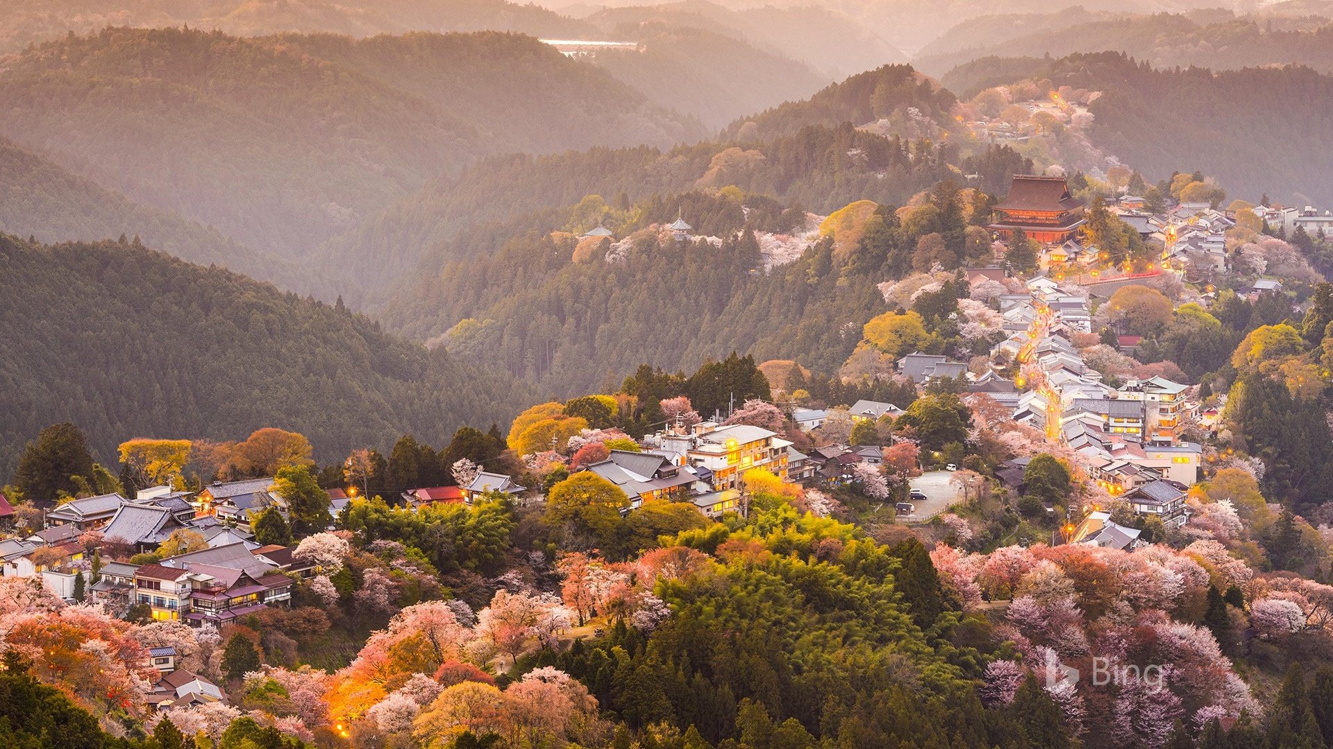
<svg viewBox="0 0 1333 749"><path fill-rule="evenodd" d="M989 19L993 24L969 21L932 44L914 64L940 75L986 56L1060 57L1113 51L1162 68L1300 64L1333 72L1333 23L1328 19L1236 17L1216 9L1096 20L1084 13L1084 23L1078 17L1066 12ZM1024 27L1026 31L1021 31ZM992 39L981 41L984 37ZM968 45L968 40L980 44Z"/></svg>

